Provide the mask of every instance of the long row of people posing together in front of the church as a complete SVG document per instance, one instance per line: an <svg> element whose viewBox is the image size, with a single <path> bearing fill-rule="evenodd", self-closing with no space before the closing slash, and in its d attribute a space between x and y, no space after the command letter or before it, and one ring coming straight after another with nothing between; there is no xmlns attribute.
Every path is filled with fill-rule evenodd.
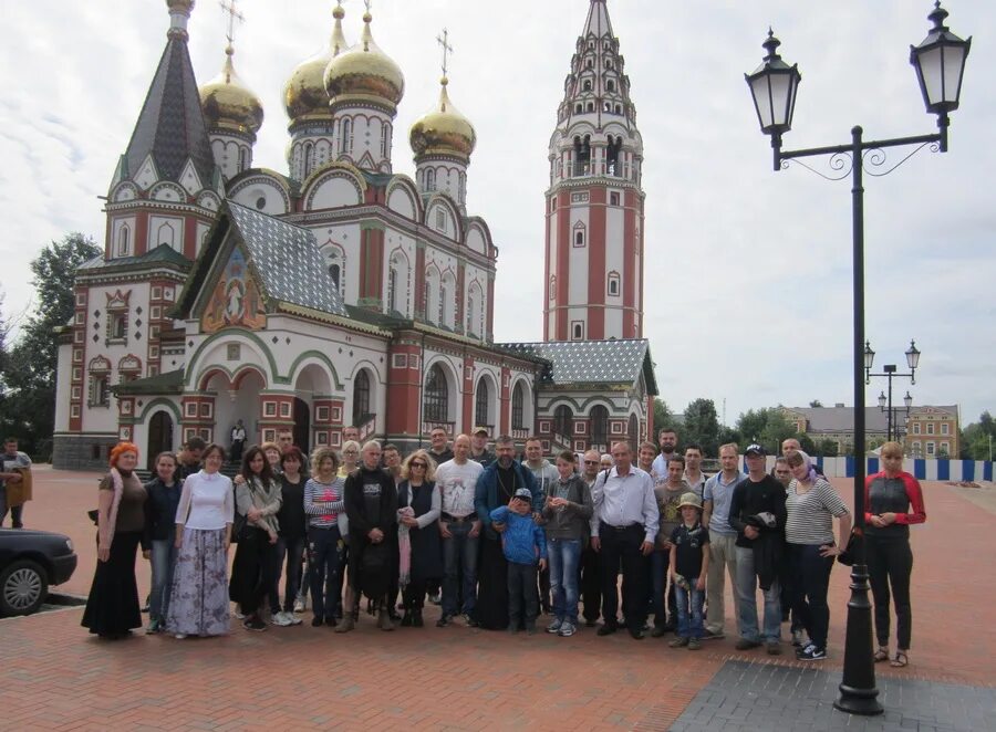
<svg viewBox="0 0 996 732"><path fill-rule="evenodd" d="M696 650L725 636L728 574L738 649L780 653L782 610L791 610L797 657L826 658L829 578L851 517L795 440L774 474L759 445L745 450L741 472L730 443L719 449L720 472L706 477L702 448L678 453L673 429L660 432L660 452L620 441L610 456L563 451L552 463L539 438L526 441L522 460L508 436L490 451L484 428L452 448L437 428L430 448L404 458L391 445L361 446L353 428L344 438L341 453L322 447L309 460L281 435L280 443L248 448L235 480L220 472L221 446L193 439L179 454L159 454L145 484L134 472L137 448L117 445L98 492L98 562L83 626L110 638L142 626L141 545L152 561L146 630L177 638L228 632L230 603L248 630L299 625L310 594L311 625L336 632L355 628L365 596L382 630L423 627L432 600L442 604L440 628L459 619L536 634L543 610L546 631L560 637L624 627L634 639L674 632L672 647ZM898 445L883 448L883 461L868 481L875 658L905 666L909 524L925 514Z"/></svg>

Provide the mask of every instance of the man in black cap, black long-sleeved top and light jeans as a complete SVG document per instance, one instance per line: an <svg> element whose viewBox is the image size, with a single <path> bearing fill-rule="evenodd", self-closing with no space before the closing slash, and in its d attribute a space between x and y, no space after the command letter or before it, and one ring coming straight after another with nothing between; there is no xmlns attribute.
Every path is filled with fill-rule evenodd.
<svg viewBox="0 0 996 732"><path fill-rule="evenodd" d="M765 472L765 449L747 446L747 478L737 483L729 503L729 525L737 532L737 650L762 642L771 656L781 653L781 598L778 569L785 544L785 487ZM764 628L757 626L757 587L765 597Z"/></svg>

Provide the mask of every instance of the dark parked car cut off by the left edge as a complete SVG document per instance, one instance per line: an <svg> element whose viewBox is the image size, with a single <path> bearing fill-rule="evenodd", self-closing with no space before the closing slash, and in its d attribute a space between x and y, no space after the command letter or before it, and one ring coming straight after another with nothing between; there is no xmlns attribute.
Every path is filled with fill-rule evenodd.
<svg viewBox="0 0 996 732"><path fill-rule="evenodd" d="M49 596L50 585L73 576L76 553L64 534L0 529L0 616L30 615Z"/></svg>

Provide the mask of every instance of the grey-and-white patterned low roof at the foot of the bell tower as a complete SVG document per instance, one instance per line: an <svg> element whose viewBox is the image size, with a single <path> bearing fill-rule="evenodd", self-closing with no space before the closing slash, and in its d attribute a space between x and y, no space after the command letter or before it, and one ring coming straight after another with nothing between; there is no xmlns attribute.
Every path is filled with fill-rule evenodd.
<svg viewBox="0 0 996 732"><path fill-rule="evenodd" d="M513 353L550 362L543 380L557 385L633 384L641 372L657 393L650 343L643 338L496 344Z"/></svg>

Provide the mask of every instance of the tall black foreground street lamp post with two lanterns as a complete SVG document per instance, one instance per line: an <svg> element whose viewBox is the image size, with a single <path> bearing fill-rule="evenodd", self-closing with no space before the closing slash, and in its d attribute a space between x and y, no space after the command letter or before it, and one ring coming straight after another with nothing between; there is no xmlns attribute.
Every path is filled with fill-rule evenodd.
<svg viewBox="0 0 996 732"><path fill-rule="evenodd" d="M754 97L761 132L771 136L775 170L788 167L789 160L815 156L830 156L830 167L839 171L850 169L842 175L824 176L803 163L803 167L830 180L842 180L851 176L851 210L853 237L853 300L854 300L854 526L859 533L864 531L864 181L865 164L872 168L885 164L884 148L915 145L916 148L892 167L869 175L884 176L895 170L916 151L930 145L931 149L947 151L948 113L958 108L962 91L962 76L965 59L968 55L972 39L967 41L952 33L944 24L947 11L941 2L927 17L933 22L927 36L917 46L910 46L910 63L916 70L920 91L926 111L937 115L938 132L932 135L899 137L865 142L861 127L851 129L851 143L815 147L799 150L782 150L781 136L792 126L792 114L796 107L801 75L797 65L789 66L776 53L780 41L772 31L762 44L768 54L764 63L753 73L745 74ZM865 154L869 154L865 160ZM844 644L843 679L840 683L840 697L833 705L852 714L880 714L879 690L875 687L874 660L872 658L872 623L871 603L868 598L868 567L864 563L864 550L859 548L851 572L851 598L848 602L847 639Z"/></svg>

